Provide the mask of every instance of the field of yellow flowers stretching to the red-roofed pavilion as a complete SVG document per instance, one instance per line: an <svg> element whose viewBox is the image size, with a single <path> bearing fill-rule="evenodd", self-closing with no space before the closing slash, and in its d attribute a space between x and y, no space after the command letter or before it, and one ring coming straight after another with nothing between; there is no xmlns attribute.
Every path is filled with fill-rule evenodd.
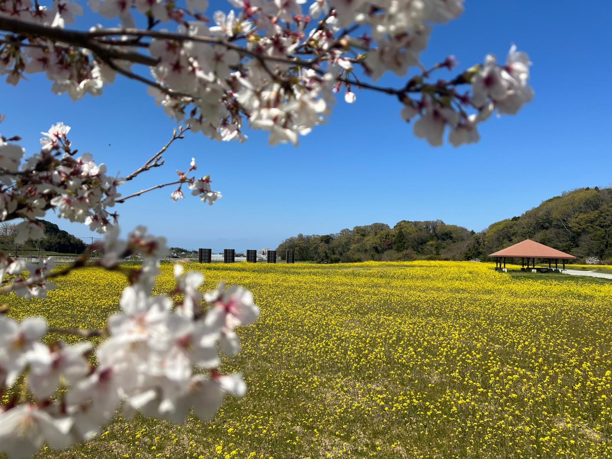
<svg viewBox="0 0 612 459"><path fill-rule="evenodd" d="M612 457L612 283L494 264L187 264L253 291L242 399L209 422L117 417L40 458ZM174 286L171 264L156 289ZM543 280L542 280L543 279ZM567 282L566 282L567 281ZM88 268L9 315L100 327L125 281ZM58 336L48 336L48 340Z"/></svg>

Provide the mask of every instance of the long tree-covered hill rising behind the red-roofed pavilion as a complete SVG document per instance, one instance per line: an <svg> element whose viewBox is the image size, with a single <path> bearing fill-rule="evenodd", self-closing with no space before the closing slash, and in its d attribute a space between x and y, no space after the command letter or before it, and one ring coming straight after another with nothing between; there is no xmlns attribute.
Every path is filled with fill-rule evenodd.
<svg viewBox="0 0 612 459"><path fill-rule="evenodd" d="M442 220L355 226L336 234L285 239L279 255L294 250L296 261L485 259L524 239L550 245L578 257L595 256L612 263L612 189L578 188L476 233Z"/></svg>

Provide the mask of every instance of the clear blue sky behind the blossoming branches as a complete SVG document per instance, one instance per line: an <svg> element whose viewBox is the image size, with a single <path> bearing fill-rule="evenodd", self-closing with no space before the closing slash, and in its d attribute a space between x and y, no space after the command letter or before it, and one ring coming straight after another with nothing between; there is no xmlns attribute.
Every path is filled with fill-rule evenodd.
<svg viewBox="0 0 612 459"><path fill-rule="evenodd" d="M353 106L340 100L329 124L302 136L298 147L270 147L266 133L253 131L244 144L187 135L166 153L163 168L125 186L124 194L170 181L195 156L198 173L211 174L222 200L212 207L191 196L173 203L170 189L158 190L119 206L121 226L142 223L186 248L274 248L297 233L403 219L440 218L479 231L563 190L606 186L612 182L611 16L605 0L588 7L468 1L463 16L434 29L424 64L447 54L457 56L460 68L488 52L505 59L511 43L534 62L534 101L517 116L482 124L480 143L430 147L400 119L397 100L357 91ZM111 173L132 172L174 127L144 86L121 76L102 97L78 102L52 94L41 76L1 91L0 112L8 118L0 132L21 135L26 153L39 148L40 131L64 121L74 146ZM49 219L76 236L92 234L84 225Z"/></svg>

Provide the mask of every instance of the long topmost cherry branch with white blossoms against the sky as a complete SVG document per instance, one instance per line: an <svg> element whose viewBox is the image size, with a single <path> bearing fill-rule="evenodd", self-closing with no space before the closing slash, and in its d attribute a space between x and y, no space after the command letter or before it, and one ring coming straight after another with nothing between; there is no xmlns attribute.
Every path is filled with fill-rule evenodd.
<svg viewBox="0 0 612 459"><path fill-rule="evenodd" d="M0 73L8 73L7 81L17 84L23 73L47 72L48 78L57 82L53 91L68 92L75 100L88 92L100 94L102 86L114 81L115 73L121 73L154 88L151 95L157 105L163 106L172 118L185 119L193 132L202 132L215 140L244 141L247 136L242 126L247 118L252 129L270 132L271 144L289 141L295 145L299 134L310 132L329 116L333 92L344 87L346 102L353 103L356 95L351 88L357 86L395 95L402 103L401 117L406 121L417 117L418 122L413 124L415 135L427 138L432 145L441 144L439 136L444 136L446 127L453 145L472 143L480 138L477 124L492 111L515 114L532 99L533 91L528 86L531 62L526 53L517 52L513 47L505 65L488 55L486 65L471 67L454 80L425 83L424 79L433 70L442 67L450 70L456 64L452 56L430 70L420 64L419 54L427 47L430 34L428 21L444 23L463 10L461 0L435 5L431 1L431 9L425 10L411 3L403 4L398 18L414 17L414 21L400 20L397 24L394 24L395 13L386 11L384 5L373 7L364 13L365 17L362 13L353 17L356 13L353 7L340 9L340 13L337 7L310 32L306 29L308 17L297 15L291 20L286 11L283 13L286 6L273 17L266 16L264 9L250 10L248 6L237 18L233 12L228 17L218 12L217 26L212 28L207 28L197 12L188 9L195 22L187 22L183 19L184 10L173 10L176 14L170 19L181 24L176 32L152 30L160 19L159 14L171 13L165 7L165 13L158 11L148 17L146 30L92 28L86 32L64 29L63 23L56 27L50 22L40 25L0 17L0 29L20 35L19 39L5 37L10 43L0 47L0 67L5 67L0 68ZM113 0L102 2L110 4ZM159 2L155 4L161 6ZM113 5L119 15L121 4ZM318 1L318 14L326 7L326 3ZM171 9L174 8L173 5ZM351 16L350 20L343 18L346 14ZM384 15L389 17L381 22ZM264 19L263 23L258 21L260 18ZM283 23L279 23L279 18ZM67 20L74 23L70 15ZM292 22L296 24L295 30ZM371 36L366 30L361 37L351 37L361 27L369 27ZM308 39L300 44L299 40L304 37ZM26 39L28 43L22 43ZM21 44L39 45L37 39L41 39L40 43L43 40L52 43L47 48L39 48L40 51L34 47L21 54ZM141 42L143 39L151 40ZM196 47L193 43L210 46ZM147 48L150 55L130 47ZM357 49L365 53L357 55ZM315 55L310 59L296 57L296 54L305 55L305 51ZM356 58L351 54L356 54ZM153 79L132 72L118 61L147 65ZM66 80L64 69L73 62L76 69ZM271 67L271 62L278 65ZM12 69L6 69L7 65L12 65ZM372 82L360 81L356 67L361 67L364 79L370 78ZM401 76L407 75L411 67L417 67L422 73L402 88L375 84L387 70ZM455 91L458 84L470 84L472 94L458 94ZM300 101L298 112L291 106L294 100ZM445 111L445 116L439 116L440 110Z"/></svg>

